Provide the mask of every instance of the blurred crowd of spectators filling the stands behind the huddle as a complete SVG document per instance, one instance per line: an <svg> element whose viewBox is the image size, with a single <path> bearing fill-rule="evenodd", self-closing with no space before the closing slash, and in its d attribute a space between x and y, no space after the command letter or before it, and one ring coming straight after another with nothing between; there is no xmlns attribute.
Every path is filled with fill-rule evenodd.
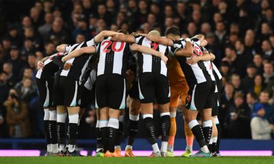
<svg viewBox="0 0 274 164"><path fill-rule="evenodd" d="M43 137L36 64L55 53L59 44L90 40L105 29L155 29L163 35L177 26L188 38L203 33L206 48L216 55L224 83L218 115L221 136L251 138L252 131L253 139L271 139L273 6L268 0L0 0L0 137ZM95 128L94 107L85 115L87 128Z"/></svg>

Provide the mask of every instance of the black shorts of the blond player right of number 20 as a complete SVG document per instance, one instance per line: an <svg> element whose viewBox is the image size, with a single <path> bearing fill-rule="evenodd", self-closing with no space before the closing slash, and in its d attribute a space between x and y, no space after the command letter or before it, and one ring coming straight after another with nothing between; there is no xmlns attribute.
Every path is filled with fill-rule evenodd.
<svg viewBox="0 0 274 164"><path fill-rule="evenodd" d="M138 87L141 103L151 103L156 99L158 104L163 105L170 101L169 79L163 74L151 72L140 74Z"/></svg>

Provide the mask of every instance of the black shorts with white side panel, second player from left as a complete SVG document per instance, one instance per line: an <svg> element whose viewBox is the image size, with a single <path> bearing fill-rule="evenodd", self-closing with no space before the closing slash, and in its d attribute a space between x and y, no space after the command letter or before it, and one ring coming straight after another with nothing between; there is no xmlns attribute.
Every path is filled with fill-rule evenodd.
<svg viewBox="0 0 274 164"><path fill-rule="evenodd" d="M55 77L54 83L54 103L66 107L78 107L81 96L81 88L78 81L70 77Z"/></svg>

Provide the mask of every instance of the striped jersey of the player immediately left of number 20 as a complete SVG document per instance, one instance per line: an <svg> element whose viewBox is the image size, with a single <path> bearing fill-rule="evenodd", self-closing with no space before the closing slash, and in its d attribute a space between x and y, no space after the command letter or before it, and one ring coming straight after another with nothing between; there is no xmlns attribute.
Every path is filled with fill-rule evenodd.
<svg viewBox="0 0 274 164"><path fill-rule="evenodd" d="M70 46L66 46L66 51L68 53L71 53L72 51L75 51L77 49L81 49L86 46L94 46L95 42L94 39L89 40L88 42L82 42L80 44L73 44ZM66 63L72 64L71 68L69 70L62 70L60 73L60 76L62 77L71 77L77 81L81 79L82 75L84 74L84 71L86 70L86 67L88 66L88 61L90 60L90 57L92 55L88 53L84 53L80 55L79 57L74 57L72 59L69 59L66 61Z"/></svg>

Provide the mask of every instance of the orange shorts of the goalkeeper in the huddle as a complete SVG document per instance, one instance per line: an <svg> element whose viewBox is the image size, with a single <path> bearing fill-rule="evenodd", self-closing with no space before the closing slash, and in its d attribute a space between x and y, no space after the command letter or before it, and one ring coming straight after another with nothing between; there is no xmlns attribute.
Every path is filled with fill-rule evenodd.
<svg viewBox="0 0 274 164"><path fill-rule="evenodd" d="M171 101L169 107L177 107L179 104L179 98L182 100L182 105L186 104L186 96L188 96L188 83L186 80L170 84L171 87Z"/></svg>

